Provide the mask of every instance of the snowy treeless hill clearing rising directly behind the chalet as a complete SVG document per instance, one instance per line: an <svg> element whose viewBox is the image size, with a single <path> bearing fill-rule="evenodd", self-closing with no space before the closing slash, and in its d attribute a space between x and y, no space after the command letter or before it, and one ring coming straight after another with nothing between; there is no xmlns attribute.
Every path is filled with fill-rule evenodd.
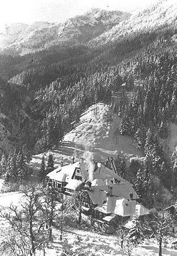
<svg viewBox="0 0 177 256"><path fill-rule="evenodd" d="M137 157L142 158L143 152L133 146L132 138L120 135L117 131L121 119L111 114L106 104L90 106L80 118L78 125L66 134L64 142L56 150L45 152L45 160L50 153L53 154L55 167L71 162L71 156L87 154L98 160L105 160L108 156L115 156L122 152L127 160ZM117 131L117 132L116 132ZM89 151L89 153L88 153ZM39 170L43 154L35 155L31 167Z"/></svg>

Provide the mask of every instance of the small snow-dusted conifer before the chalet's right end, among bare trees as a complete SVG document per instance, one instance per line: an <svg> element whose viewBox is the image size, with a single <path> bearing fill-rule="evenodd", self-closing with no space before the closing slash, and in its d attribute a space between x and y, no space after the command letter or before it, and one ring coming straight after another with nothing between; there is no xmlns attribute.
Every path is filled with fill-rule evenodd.
<svg viewBox="0 0 177 256"><path fill-rule="evenodd" d="M132 228L129 230L128 239L129 242L134 243L136 247L142 239L141 223L137 211L132 218Z"/></svg>

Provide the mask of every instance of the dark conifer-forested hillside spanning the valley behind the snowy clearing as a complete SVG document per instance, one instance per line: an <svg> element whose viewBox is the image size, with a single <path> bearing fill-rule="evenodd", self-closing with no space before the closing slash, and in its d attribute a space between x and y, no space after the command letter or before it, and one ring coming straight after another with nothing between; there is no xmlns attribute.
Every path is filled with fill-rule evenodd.
<svg viewBox="0 0 177 256"><path fill-rule="evenodd" d="M147 13L152 13L153 19L157 11L161 11L159 5L139 14L140 24ZM132 137L134 146L145 153L146 172L164 182L168 177L168 188L176 185L176 154L171 162L171 152L167 154L162 147L170 135L169 126L176 124L174 19L168 26L154 22L145 31L137 28L97 46L52 46L33 55L1 55L0 76L6 81L3 90L8 94L2 93L1 113L15 128L1 123L15 134L14 147L27 144L36 154L57 148L83 110L104 102L111 105L117 118L121 117L119 133ZM112 92L121 92L120 104L112 101ZM127 99L127 92L132 99ZM11 135L8 139L13 142Z"/></svg>

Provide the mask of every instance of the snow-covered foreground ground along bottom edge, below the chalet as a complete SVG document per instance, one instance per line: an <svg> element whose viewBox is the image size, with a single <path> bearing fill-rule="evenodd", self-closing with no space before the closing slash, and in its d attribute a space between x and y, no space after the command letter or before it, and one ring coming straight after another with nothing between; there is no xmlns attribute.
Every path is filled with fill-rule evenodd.
<svg viewBox="0 0 177 256"><path fill-rule="evenodd" d="M57 232L55 236L57 236ZM74 255L82 253L83 255L90 256L121 256L119 241L115 236L74 229L69 230L67 233L64 234L64 240L68 242L69 245L71 245L71 249L76 253ZM56 239L49 247L49 249L46 249L47 255L61 255L61 250L65 247L65 244L65 242L60 242ZM68 246L66 246L66 248L67 247ZM43 253L39 253L38 255L43 255ZM142 245L134 248L131 255L157 256L158 245L154 241L144 241ZM176 256L177 251L163 248L162 255Z"/></svg>

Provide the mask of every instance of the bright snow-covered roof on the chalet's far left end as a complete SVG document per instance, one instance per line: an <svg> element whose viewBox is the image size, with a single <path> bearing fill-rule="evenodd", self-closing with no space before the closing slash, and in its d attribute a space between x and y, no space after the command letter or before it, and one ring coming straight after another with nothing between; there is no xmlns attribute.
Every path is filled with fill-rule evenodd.
<svg viewBox="0 0 177 256"><path fill-rule="evenodd" d="M50 172L47 176L49 179L57 181L66 181L68 182L74 174L75 168L79 168L79 162L74 164L68 164L63 167L59 167L54 171Z"/></svg>

